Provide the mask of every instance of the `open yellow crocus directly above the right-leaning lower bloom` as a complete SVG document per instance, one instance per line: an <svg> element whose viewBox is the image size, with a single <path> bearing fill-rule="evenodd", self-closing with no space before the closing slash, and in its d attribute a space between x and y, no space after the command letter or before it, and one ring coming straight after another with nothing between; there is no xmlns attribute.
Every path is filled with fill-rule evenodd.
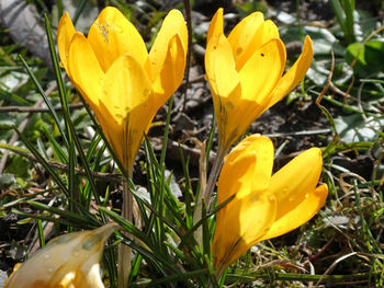
<svg viewBox="0 0 384 288"><path fill-rule="evenodd" d="M217 118L219 149L227 151L263 112L285 96L305 76L313 58L312 41L283 76L285 47L273 22L255 12L226 37L223 9L214 15L207 33L206 79Z"/></svg>

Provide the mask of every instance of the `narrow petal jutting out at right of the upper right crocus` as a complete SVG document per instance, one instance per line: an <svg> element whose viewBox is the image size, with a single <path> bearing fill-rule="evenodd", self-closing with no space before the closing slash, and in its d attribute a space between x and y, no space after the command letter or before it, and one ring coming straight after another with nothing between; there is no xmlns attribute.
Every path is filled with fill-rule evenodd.
<svg viewBox="0 0 384 288"><path fill-rule="evenodd" d="M312 39L309 36L306 36L302 55L291 67L291 69L279 81L276 88L272 93L269 106L272 106L280 100L282 100L287 93L291 92L292 89L294 89L300 83L300 81L302 81L305 73L309 69L313 56L314 50Z"/></svg>

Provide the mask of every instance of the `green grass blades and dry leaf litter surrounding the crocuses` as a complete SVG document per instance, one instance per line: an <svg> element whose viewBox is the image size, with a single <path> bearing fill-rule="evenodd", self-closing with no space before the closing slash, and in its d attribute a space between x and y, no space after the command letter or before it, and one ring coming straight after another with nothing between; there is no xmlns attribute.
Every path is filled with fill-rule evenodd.
<svg viewBox="0 0 384 288"><path fill-rule="evenodd" d="M219 2L219 3L218 3ZM92 229L112 218L135 235L115 232L105 249L105 279L115 285L113 247L135 254L133 287L205 287L212 217L193 237L199 155L215 157L212 100L204 82L206 31L217 4L226 30L253 11L278 24L292 64L305 35L315 59L302 85L250 127L272 138L275 168L312 146L324 149L326 207L307 224L251 249L227 272L225 287L383 286L384 37L382 1L194 1L189 83L156 116L136 159L133 182L143 218L122 219L123 177L92 113L58 68L55 27L70 11L87 32L100 9L116 5L148 47L170 8L181 1L14 1L0 3L0 268L2 277L52 237ZM188 1L187 10L189 8ZM208 4L207 4L208 3ZM13 7L13 9L15 9ZM18 13L15 12L18 11ZM20 12L21 11L21 12ZM12 14L16 13L16 14ZM18 18L12 18L18 15ZM53 38L46 37L46 33ZM30 37L25 42L25 35ZM34 47L34 48L32 48ZM50 49L49 49L50 47ZM48 57L49 56L49 57ZM163 137L163 136L168 137ZM212 148L212 150L211 150ZM229 231L228 231L229 232Z"/></svg>

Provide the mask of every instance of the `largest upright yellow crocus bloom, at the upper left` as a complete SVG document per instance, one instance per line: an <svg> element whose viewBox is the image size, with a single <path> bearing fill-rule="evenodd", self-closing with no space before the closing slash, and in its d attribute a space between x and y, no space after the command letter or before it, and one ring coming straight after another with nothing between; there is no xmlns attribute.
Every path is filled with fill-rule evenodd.
<svg viewBox="0 0 384 288"><path fill-rule="evenodd" d="M155 114L182 81L187 43L178 10L163 20L149 54L134 25L113 7L100 13L88 37L75 31L68 13L60 19L61 66L128 171Z"/></svg>

